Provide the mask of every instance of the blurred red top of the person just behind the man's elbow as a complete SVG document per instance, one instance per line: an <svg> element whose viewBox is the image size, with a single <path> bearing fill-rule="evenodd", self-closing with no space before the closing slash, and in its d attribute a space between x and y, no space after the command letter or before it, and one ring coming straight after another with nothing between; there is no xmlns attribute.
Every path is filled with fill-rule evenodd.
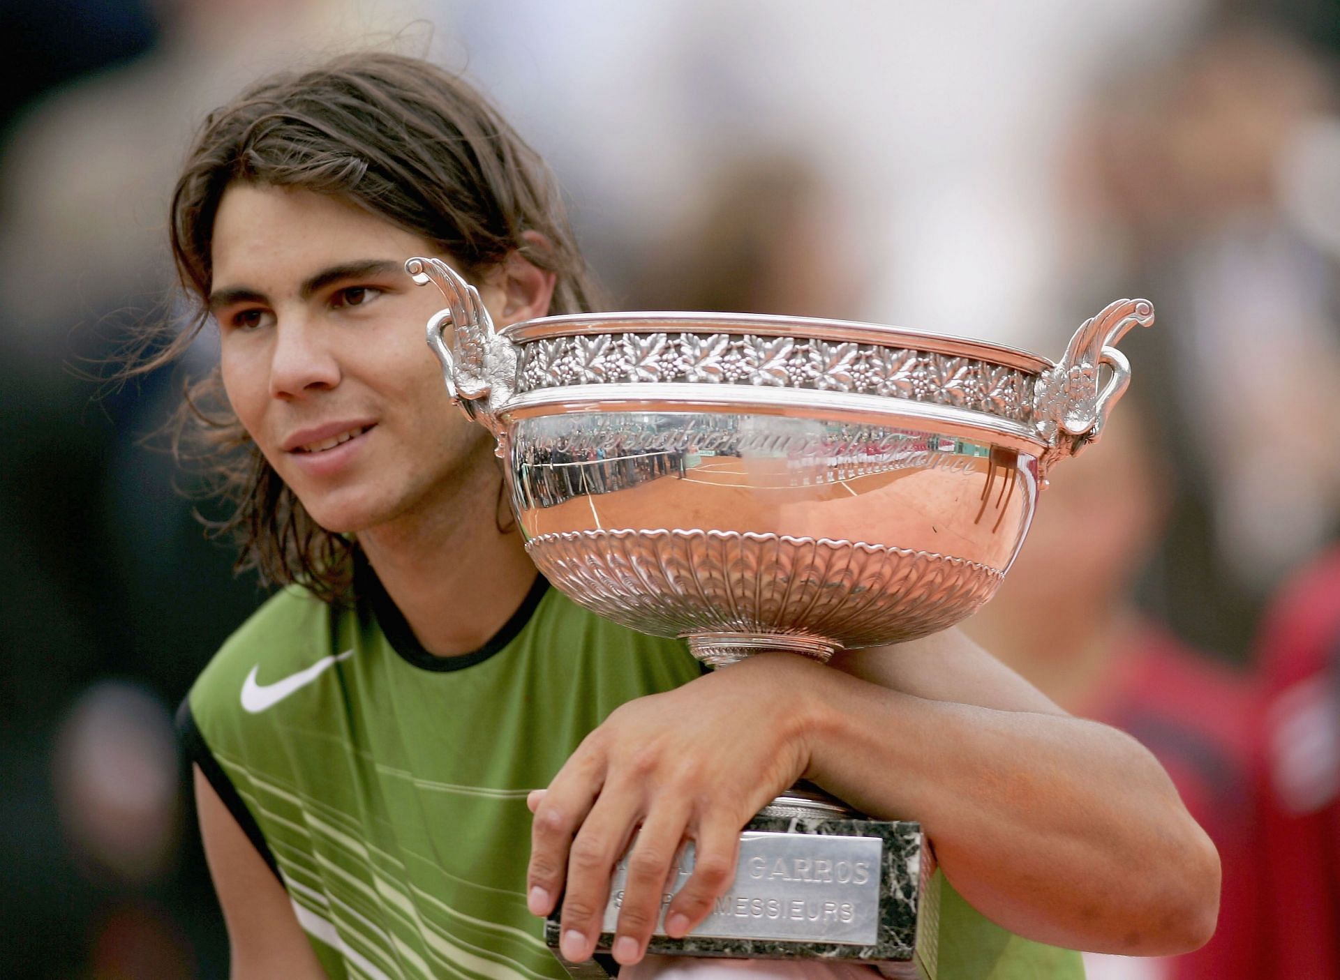
<svg viewBox="0 0 1340 980"><path fill-rule="evenodd" d="M1244 676L1147 625L1115 657L1097 699L1077 714L1139 739L1172 778L1219 849L1219 926L1202 949L1130 963L1128 976L1235 980L1274 976L1265 952L1256 724L1260 699ZM1114 787L1116 789L1116 787ZM1093 975L1120 976L1093 964Z"/></svg>

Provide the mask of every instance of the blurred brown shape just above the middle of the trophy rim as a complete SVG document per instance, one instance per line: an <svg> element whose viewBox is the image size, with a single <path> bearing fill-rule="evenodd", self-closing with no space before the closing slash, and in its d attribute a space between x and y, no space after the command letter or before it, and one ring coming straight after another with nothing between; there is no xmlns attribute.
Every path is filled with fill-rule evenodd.
<svg viewBox="0 0 1340 980"><path fill-rule="evenodd" d="M650 254L630 309L851 319L860 308L850 225L820 171L793 155L722 163Z"/></svg>

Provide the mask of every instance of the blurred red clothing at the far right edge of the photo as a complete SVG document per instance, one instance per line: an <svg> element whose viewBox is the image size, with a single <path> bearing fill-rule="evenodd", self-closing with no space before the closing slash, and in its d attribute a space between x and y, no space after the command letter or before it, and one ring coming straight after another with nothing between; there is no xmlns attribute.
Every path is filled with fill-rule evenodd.
<svg viewBox="0 0 1340 980"><path fill-rule="evenodd" d="M1340 977L1340 549L1272 606L1261 636L1268 687L1266 857L1272 976Z"/></svg>

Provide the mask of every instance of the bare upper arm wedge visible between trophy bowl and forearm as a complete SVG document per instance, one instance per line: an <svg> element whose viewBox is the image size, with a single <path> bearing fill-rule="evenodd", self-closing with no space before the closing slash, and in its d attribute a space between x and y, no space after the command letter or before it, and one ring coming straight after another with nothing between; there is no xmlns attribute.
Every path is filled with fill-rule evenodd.
<svg viewBox="0 0 1340 980"><path fill-rule="evenodd" d="M957 628L890 647L839 651L829 663L855 677L927 700L1065 714Z"/></svg>

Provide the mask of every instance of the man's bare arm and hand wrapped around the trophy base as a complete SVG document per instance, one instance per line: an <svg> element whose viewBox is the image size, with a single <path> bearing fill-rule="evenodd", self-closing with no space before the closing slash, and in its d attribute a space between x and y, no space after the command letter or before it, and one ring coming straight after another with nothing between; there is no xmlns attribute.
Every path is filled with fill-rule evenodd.
<svg viewBox="0 0 1340 980"><path fill-rule="evenodd" d="M567 885L565 956L590 955L634 827L623 963L646 947L679 839L698 853L671 934L708 914L740 827L801 775L921 821L965 898L1022 936L1128 955L1209 938L1218 855L1134 739L1071 718L958 631L833 665L760 655L630 702L583 742L537 801L532 841L532 912ZM624 937L636 945L620 953Z"/></svg>

